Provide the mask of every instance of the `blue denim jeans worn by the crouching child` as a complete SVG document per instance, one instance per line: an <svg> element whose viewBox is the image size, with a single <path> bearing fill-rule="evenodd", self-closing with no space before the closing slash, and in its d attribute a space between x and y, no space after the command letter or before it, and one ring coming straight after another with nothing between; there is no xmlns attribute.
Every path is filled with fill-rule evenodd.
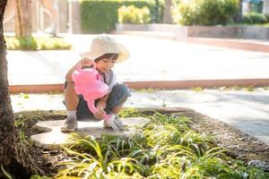
<svg viewBox="0 0 269 179"><path fill-rule="evenodd" d="M131 96L131 93L128 87L125 84L117 83L111 90L108 96L107 107L105 111L107 114L111 113L113 107L120 107L125 102L126 99ZM77 107L76 116L78 121L86 121L87 118L93 118L91 111L87 106L87 101L84 100L82 95L79 96L80 101ZM95 105L98 102L98 99L94 101Z"/></svg>

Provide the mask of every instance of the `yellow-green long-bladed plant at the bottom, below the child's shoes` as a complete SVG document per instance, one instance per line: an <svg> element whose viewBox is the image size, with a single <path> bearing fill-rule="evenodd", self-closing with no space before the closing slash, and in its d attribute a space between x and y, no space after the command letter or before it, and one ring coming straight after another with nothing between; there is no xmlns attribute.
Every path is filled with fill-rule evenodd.
<svg viewBox="0 0 269 179"><path fill-rule="evenodd" d="M73 150L80 145L91 149L91 154ZM110 156L108 153L110 151L103 152L100 142L90 136L82 138L74 135L70 138L68 148L65 150L67 153L75 155L76 158L72 161L62 162L60 165L66 166L66 168L60 170L56 177L108 178L112 175L128 176L136 173L134 158Z"/></svg>

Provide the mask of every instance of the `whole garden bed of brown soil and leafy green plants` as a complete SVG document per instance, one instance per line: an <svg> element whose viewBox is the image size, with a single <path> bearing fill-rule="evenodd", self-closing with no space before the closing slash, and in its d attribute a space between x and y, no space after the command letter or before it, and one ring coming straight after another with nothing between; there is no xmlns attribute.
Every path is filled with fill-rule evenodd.
<svg viewBox="0 0 269 179"><path fill-rule="evenodd" d="M38 121L65 118L65 112L16 115L22 140L38 133ZM56 178L268 178L269 147L227 124L180 108L128 109L152 122L132 138L73 135L65 150L27 145L44 171ZM88 176L88 177L86 177ZM38 176L32 176L38 178Z"/></svg>

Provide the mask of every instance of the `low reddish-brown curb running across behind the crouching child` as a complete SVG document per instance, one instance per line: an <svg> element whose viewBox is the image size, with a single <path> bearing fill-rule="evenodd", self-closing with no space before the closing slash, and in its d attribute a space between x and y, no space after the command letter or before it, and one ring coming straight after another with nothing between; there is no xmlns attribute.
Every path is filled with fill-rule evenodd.
<svg viewBox="0 0 269 179"><path fill-rule="evenodd" d="M268 86L269 79L233 79L233 80L200 80L200 81L126 81L130 89L190 89L195 87L213 88L223 86ZM33 84L10 85L10 93L60 93L64 91L64 84Z"/></svg>

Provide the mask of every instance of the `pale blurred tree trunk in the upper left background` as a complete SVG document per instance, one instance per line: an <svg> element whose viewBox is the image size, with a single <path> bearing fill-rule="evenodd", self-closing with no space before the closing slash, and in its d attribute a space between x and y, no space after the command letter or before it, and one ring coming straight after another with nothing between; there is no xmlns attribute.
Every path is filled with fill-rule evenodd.
<svg viewBox="0 0 269 179"><path fill-rule="evenodd" d="M31 35L31 0L16 0L15 34L16 37Z"/></svg>

